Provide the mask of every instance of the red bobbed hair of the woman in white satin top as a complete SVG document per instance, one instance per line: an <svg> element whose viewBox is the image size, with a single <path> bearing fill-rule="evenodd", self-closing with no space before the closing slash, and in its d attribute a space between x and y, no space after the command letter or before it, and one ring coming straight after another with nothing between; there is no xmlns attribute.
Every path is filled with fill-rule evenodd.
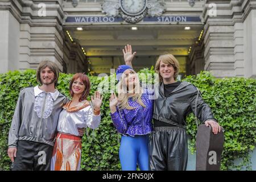
<svg viewBox="0 0 256 182"><path fill-rule="evenodd" d="M89 93L90 93L90 80L89 77L87 75L85 75L84 73L76 73L72 80L69 83L69 93L71 95L71 97L73 97L74 93L72 91L72 85L73 82L80 78L80 80L84 83L85 85L85 89L84 92L82 92L82 96L79 98L79 102L86 100L86 98L88 97Z"/></svg>

